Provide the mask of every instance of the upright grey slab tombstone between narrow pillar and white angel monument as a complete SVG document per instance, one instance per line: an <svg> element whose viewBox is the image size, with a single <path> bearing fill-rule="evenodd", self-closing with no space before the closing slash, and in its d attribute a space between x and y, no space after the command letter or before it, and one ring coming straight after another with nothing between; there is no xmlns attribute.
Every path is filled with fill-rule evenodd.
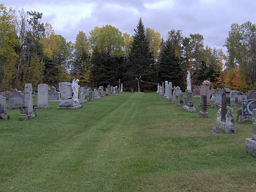
<svg viewBox="0 0 256 192"><path fill-rule="evenodd" d="M51 109L48 106L48 84L41 83L37 85L37 108Z"/></svg>

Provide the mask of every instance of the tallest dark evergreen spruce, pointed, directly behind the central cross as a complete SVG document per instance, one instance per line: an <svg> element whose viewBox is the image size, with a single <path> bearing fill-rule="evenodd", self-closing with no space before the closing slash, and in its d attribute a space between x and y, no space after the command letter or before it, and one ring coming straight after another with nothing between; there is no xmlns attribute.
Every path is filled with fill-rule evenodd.
<svg viewBox="0 0 256 192"><path fill-rule="evenodd" d="M145 28L142 19L139 19L137 29L134 29L135 34L131 45L131 52L126 63L126 78L124 86L126 88L138 89L138 81L136 77L141 79L141 91L153 91L156 89L156 81L154 74L154 54L150 51L150 44L145 35ZM154 82L155 81L155 82Z"/></svg>

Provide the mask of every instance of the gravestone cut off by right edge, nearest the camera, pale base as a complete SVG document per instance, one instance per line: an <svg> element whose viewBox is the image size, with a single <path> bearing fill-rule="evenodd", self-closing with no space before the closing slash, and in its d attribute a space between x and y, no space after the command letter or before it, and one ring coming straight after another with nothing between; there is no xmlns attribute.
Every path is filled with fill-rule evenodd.
<svg viewBox="0 0 256 192"><path fill-rule="evenodd" d="M252 110L252 138L246 138L246 152L256 156L256 109Z"/></svg>

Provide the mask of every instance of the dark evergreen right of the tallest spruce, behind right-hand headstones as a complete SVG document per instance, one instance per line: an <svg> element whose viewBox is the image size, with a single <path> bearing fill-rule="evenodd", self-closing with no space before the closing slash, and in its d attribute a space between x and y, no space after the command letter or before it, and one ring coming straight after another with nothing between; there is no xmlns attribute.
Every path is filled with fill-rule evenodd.
<svg viewBox="0 0 256 192"><path fill-rule="evenodd" d="M185 89L181 58L175 55L175 47L169 38L160 53L158 77L160 82L170 81L173 86Z"/></svg>

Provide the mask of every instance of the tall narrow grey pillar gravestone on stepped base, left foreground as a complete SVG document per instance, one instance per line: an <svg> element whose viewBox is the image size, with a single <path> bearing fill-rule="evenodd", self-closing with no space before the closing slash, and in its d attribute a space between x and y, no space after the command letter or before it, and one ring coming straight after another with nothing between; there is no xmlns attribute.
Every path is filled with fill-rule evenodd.
<svg viewBox="0 0 256 192"><path fill-rule="evenodd" d="M37 113L33 111L33 97L32 97L32 84L26 83L24 88L24 106L19 107L21 115L18 116L19 120L25 121L33 117L37 117Z"/></svg>

